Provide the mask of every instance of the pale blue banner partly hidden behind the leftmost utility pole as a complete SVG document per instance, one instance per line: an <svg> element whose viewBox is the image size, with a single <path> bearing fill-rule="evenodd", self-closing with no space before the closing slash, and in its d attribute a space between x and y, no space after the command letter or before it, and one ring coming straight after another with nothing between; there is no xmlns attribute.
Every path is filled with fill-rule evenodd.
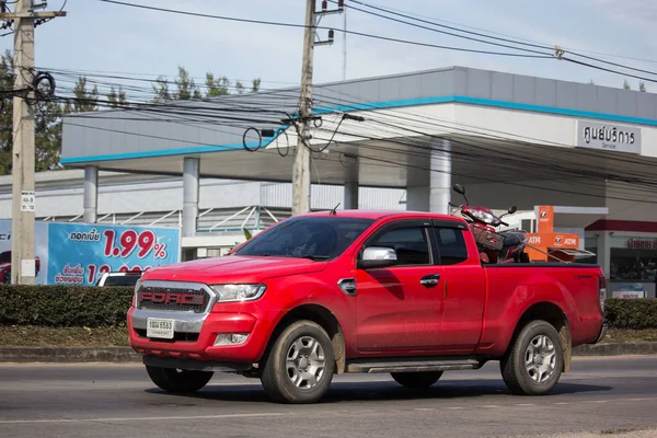
<svg viewBox="0 0 657 438"><path fill-rule="evenodd" d="M11 220L0 219L0 283L11 279ZM48 223L34 224L35 283L45 285L48 278Z"/></svg>

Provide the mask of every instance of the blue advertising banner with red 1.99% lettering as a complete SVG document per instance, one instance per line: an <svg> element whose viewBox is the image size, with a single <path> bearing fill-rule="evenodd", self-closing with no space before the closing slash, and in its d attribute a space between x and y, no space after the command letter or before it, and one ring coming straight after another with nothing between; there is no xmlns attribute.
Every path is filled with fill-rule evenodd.
<svg viewBox="0 0 657 438"><path fill-rule="evenodd" d="M103 273L177 263L177 228L48 224L49 285L92 286Z"/></svg>

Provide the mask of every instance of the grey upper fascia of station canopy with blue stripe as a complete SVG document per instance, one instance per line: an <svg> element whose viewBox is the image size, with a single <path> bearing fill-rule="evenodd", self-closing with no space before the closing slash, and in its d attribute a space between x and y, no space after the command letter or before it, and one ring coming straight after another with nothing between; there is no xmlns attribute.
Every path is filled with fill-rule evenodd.
<svg viewBox="0 0 657 438"><path fill-rule="evenodd" d="M280 125L279 117L272 117L255 125L250 123L251 125L242 126L235 122L233 126L222 126L220 129L214 127L211 122L222 114L230 115L231 107L238 103L244 107L257 106L270 103L272 99L276 99L281 110L293 111L298 101L298 90L286 89L217 97L209 102L177 104L181 111L193 113L195 119L207 119L205 124L162 122L158 118L164 116L145 115L141 112L105 111L85 114L84 118L70 115L65 117L64 122L62 158L66 161L90 155L172 152L204 147L215 151L222 148L240 150L242 135L246 128L274 128ZM319 84L313 91L313 102L318 111L370 111L402 106L415 110L422 105L445 103L498 106L543 114L554 113L558 108L562 115L567 115L565 112L572 116L584 117L581 113L587 112L616 122L623 122L619 118L632 117L633 122L625 119L624 123L657 125L657 95L652 93L463 67ZM262 114L254 114L253 117L263 119ZM567 124L568 119L563 123ZM531 125L526 128L530 134L537 134ZM551 130L551 136L546 138L552 138L554 134L567 137L570 129L572 127ZM654 139L657 139L657 132L646 134L647 143L653 145ZM568 137L567 140L572 142L573 137ZM656 149L652 149L653 147ZM657 157L657 145L653 145L647 154Z"/></svg>

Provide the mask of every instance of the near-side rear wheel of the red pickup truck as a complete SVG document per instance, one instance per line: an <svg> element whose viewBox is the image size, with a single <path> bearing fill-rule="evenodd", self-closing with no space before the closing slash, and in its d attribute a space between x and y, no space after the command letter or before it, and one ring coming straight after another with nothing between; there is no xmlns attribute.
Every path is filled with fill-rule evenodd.
<svg viewBox="0 0 657 438"><path fill-rule="evenodd" d="M537 372L537 369L530 370L526 365L529 357L540 360L540 357L537 358L530 351L530 343L539 339L539 336L550 339L554 351L554 360L551 361L552 366L548 368L548 373L552 373L545 380L542 379L542 372ZM556 328L545 321L532 321L520 331L509 353L499 361L499 369L504 382L511 393L516 395L546 395L558 382L563 361L564 350ZM538 364L534 362L530 366L535 365Z"/></svg>

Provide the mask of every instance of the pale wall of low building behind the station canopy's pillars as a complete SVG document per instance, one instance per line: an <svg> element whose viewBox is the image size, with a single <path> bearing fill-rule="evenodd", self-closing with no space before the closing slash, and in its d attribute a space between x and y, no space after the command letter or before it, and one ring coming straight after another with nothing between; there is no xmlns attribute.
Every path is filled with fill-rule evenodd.
<svg viewBox="0 0 657 438"><path fill-rule="evenodd" d="M57 175L54 175L57 176ZM124 217L139 212L164 215L183 207L182 178L152 177L152 182L136 184L112 183L113 178L100 178L99 217L107 214ZM44 187L46 185L46 187ZM37 184L36 217L55 217L68 220L82 215L82 173L78 178L67 180L57 186ZM342 186L312 187L312 208L330 209L343 201ZM404 191L360 187L359 207L367 209L404 209L399 203ZM227 182L201 180L199 209L210 208L239 210L247 206L289 209L291 184L260 182ZM152 216L149 216L152 217ZM0 182L0 219L11 218L11 178ZM175 219L175 218L173 218ZM154 220L154 219L152 219ZM170 220L168 223L176 223Z"/></svg>

